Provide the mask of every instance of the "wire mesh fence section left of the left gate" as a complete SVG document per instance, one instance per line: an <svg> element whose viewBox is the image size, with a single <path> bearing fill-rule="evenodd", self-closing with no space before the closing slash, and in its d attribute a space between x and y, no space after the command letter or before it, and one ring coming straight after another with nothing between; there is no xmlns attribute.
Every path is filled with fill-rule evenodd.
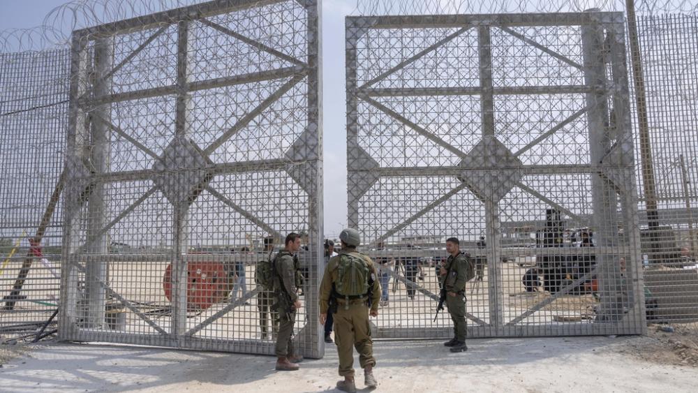
<svg viewBox="0 0 698 393"><path fill-rule="evenodd" d="M68 50L0 54L0 341L58 307L69 61Z"/></svg>

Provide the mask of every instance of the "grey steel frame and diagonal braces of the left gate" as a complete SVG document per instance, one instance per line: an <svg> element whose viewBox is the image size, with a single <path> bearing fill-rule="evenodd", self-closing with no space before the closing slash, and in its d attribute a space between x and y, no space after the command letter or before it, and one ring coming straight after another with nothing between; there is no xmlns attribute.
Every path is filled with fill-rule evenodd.
<svg viewBox="0 0 698 393"><path fill-rule="evenodd" d="M295 59L295 57L285 55L282 52L274 50L273 48L268 47L267 45L264 45L256 40L241 36L235 31L230 31L229 29L225 29L217 24L214 26L212 22L204 21L202 23L207 24L209 27L213 27L222 34L228 34L229 36L237 38L238 40L242 40L248 45L254 45L260 51L268 52L270 54L274 54L276 57L290 61L292 64L294 64L294 66L262 71L259 73L250 73L246 75L230 75L213 80L198 82L188 81L188 57L186 56L186 53L188 47L188 24L190 22L200 21L209 16L232 13L248 8L268 6L274 3L284 3L287 1L295 1L306 10L308 24L306 31L306 59ZM106 269L104 266L107 260L112 260L114 256L105 253L103 258L90 257L89 263L86 263L86 266L82 267L80 265L80 252L83 248L89 248L90 245L85 244L78 247L73 244L71 239L76 238L76 235L80 230L77 228L78 225L76 225L80 209L84 207L84 203L88 198L91 198L92 195L94 195L96 199L100 198L99 188L101 184L110 181L150 180L154 179L154 177L156 177L156 175L159 173L159 171L154 168L131 172L97 172L94 174L91 174L89 170L87 170L86 166L84 165L84 161L87 161L89 157L84 154L82 147L89 144L89 133L94 133L94 143L94 138L101 138L98 134L105 132L106 128L110 128L112 132L123 136L126 140L131 142L135 148L140 149L149 156L153 156L156 159L161 158L150 151L147 147L144 147L138 141L133 140L133 138L129 138L128 135L121 131L117 126L110 124L110 122L105 119L106 116L101 113L101 105L133 100L135 98L176 94L174 139L177 139L178 136L185 135L188 132L187 110L189 92L202 89L211 89L214 87L224 87L234 84L258 82L263 80L278 80L281 78L290 77L290 80L283 84L283 86L274 92L272 96L269 96L261 101L255 110L252 110L251 112L247 113L246 116L238 119L233 128L242 128L246 126L249 121L253 120L258 114L267 109L269 105L281 97L285 91L290 90L299 82L306 80L308 124L304 128L303 133L301 133L295 141L295 144L302 144L303 146L308 146L309 148L297 149L294 148L294 144L290 150L286 152L285 157L283 158L261 162L247 161L222 164L214 164L209 162L207 167L195 169L205 169L211 176L239 172L267 172L270 170L283 170L288 172L288 175L295 179L299 186L301 186L308 193L310 202L306 212L309 214L309 252L306 253L306 258L302 263L309 268L311 278L315 277L315 281L306 281L310 283L310 288L309 290L306 290L305 298L306 313L309 320L306 321L306 324L301 329L301 332L296 335L296 339L302 344L299 346L299 348L304 356L319 358L324 355L325 344L322 339L323 336L320 334L322 329L318 320L318 302L316 299L319 283L318 277L322 276L322 271L324 269L324 264L321 262L323 255L321 149L322 115L320 111L320 102L322 99L322 85L320 79L321 9L321 3L317 0L213 0L207 3L200 3L195 6L166 10L160 13L154 13L142 17L134 17L128 20L121 20L118 22L103 24L97 27L89 27L86 29L73 31L70 59L70 104L68 108L69 118L68 148L66 154L66 192L64 193L64 206L66 208L64 212L64 238L62 255L64 263L61 265L61 313L59 315L60 339L131 343L148 346L165 346L196 350L217 350L239 353L274 353L274 343L267 343L253 339L225 340L206 339L193 336L193 334L198 332L202 327L214 322L216 320L214 317L225 315L225 313L234 309L239 304L244 303L246 299L253 297L258 292L258 288L249 291L246 297L237 299L236 302L228 304L228 306L226 306L223 310L218 311L218 313L216 313L214 316L207 318L207 320L201 322L196 327L192 329L187 328L186 274L188 260L192 260L193 258L187 257L181 253L181 247L183 246L181 242L181 234L183 232L184 225L186 225L186 207L182 206L184 205L183 203L179 202L177 204L179 207L173 205L175 217L172 222L174 225L174 230L171 255L149 255L151 257L149 260L160 260L163 262L172 263L172 320L170 327L171 331L169 333L165 332L165 330L159 327L155 322L149 320L149 318L141 313L136 306L133 306L133 304L128 302L128 299L121 297L121 295L112 290L109 285L105 283ZM127 64L128 61L135 56L135 54L138 54L138 52L147 47L147 45L151 43L151 41L154 40L158 35L163 33L165 29L168 29L174 24L177 24L178 28L177 80L175 84L167 87L128 91L126 93L105 94L105 91L108 92L108 87L105 86L108 84L108 78L121 66ZM103 51L103 49L110 46L108 45L110 37L117 36L119 34L131 34L135 31L155 29L157 27L161 27L161 29L156 31L153 36L145 40L144 43L129 54L124 61L121 61L121 64L112 66L112 64L109 64L108 62L101 62L99 60L100 57L110 57L108 53ZM94 61L96 72L99 73L104 80L101 80L101 83L95 84L93 91L87 91L87 67L90 64L90 61L92 61L92 59L88 59L87 47L89 42L92 40L96 42L96 53L102 52L101 55L96 54ZM85 119L87 116L86 108L89 109L90 107L96 108L96 110L92 111L91 114L101 118L100 121L96 122L99 125L93 125L92 130L88 128L87 121ZM225 140L228 140L228 138L230 138L230 136L233 134L234 132L232 131L223 133L223 135L209 147L207 147L207 149L204 149L205 156L212 152L216 147L220 146L220 144L225 142ZM169 142L170 141L168 141L168 143ZM318 147L320 148L318 149ZM98 144L96 144L96 148L94 150L100 150ZM98 156L99 152L91 157L92 161L94 161L95 158L98 158ZM207 191L210 191L224 204L231 206L238 212L242 211L242 209L232 204L232 201L227 200L225 197L221 198L222 195L220 193L216 193L216 191L210 186L207 186L206 188ZM118 214L111 223L104 223L101 221L101 218L91 220L91 222L88 224L88 234L86 238L89 239L87 242L90 244L97 244L96 246L93 246L93 250L97 250L99 253L105 251L105 242L100 238L103 238L103 235L109 230L109 228L111 228L112 225L126 216L126 214L133 211L135 207L140 205L140 203L143 202L149 195L154 193L156 189L158 189L157 185L151 187L149 191L133 202L131 206L127 207L123 212ZM94 214L91 214L91 216L101 217L103 215L103 207L96 207L95 209L96 210L93 212ZM257 224L261 228L273 233L276 232L269 225L266 225L261 220L253 217L251 214L245 215L244 211L242 211L240 214L250 219L253 223ZM90 233L90 230L93 232ZM215 258L215 255L211 255L211 257ZM91 327L93 330L87 331L82 329L82 327L78 327L76 322L80 316L78 315L79 311L77 310L77 299L79 298L78 292L80 289L77 288L77 277L80 272L85 274L87 287L89 288L90 285L93 286L91 289L87 289L86 292L92 291L96 297L96 299L90 297L90 306L88 311L90 315L96 316L96 318L99 318L98 320L104 320L105 294L106 292L110 292L110 294L116 297L121 304L123 304L127 309L133 311L136 315L140 316L140 318L145 320L145 322L153 327L159 334L131 334L126 332L112 332L105 329L99 330L102 328L101 326Z"/></svg>

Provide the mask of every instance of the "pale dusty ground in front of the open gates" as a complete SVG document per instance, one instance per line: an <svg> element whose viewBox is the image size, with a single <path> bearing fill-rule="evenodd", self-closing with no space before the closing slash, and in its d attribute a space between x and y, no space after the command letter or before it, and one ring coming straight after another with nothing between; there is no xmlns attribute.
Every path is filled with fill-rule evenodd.
<svg viewBox="0 0 698 393"><path fill-rule="evenodd" d="M698 329L651 326L647 336L376 341L379 392L694 392ZM0 347L1 392L334 392L334 347L301 371L274 358L163 348L43 342ZM355 366L358 366L355 362ZM357 387L363 376L357 372Z"/></svg>

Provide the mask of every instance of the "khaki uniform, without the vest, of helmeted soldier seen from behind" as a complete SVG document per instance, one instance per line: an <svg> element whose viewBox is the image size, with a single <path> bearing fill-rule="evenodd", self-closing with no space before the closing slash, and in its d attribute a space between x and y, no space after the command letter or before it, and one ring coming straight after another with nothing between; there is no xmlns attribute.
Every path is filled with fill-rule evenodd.
<svg viewBox="0 0 698 393"><path fill-rule="evenodd" d="M368 264L371 276L373 276L373 284L369 286L369 293L366 294L366 297L350 299L348 304L346 299L336 297L334 299L337 305L336 310L334 310L334 342L337 346L337 353L339 353L339 375L344 377L354 376L352 368L354 347L359 352L359 363L362 369L366 369L367 366L372 368L376 365L376 358L373 357L369 311L378 311L378 302L380 302L380 284L376 279L376 267L373 265L373 261L367 255L350 250L352 249L342 250L339 255L330 258L327 267L325 267L325 275L322 276L322 283L320 283L320 313L326 314L329 308L329 298L333 292L336 293L333 289L339 276L338 267L341 255L351 254L362 258Z"/></svg>

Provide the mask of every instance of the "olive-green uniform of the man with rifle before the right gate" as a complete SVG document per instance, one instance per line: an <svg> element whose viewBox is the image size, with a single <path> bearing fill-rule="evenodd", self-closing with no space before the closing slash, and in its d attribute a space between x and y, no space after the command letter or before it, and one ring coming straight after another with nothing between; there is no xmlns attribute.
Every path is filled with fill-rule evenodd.
<svg viewBox="0 0 698 393"><path fill-rule="evenodd" d="M466 282L467 282L467 269L470 264L470 260L463 255L463 253L458 253L455 257L449 255L446 260L445 269L447 276L443 277L443 285L446 288L446 305L448 307L448 313L451 314L451 319L453 320L453 333L454 339L450 341L453 345L447 345L456 347L458 343L462 343L465 346L466 342ZM452 296L455 293L455 296ZM447 343L448 344L448 343Z"/></svg>

